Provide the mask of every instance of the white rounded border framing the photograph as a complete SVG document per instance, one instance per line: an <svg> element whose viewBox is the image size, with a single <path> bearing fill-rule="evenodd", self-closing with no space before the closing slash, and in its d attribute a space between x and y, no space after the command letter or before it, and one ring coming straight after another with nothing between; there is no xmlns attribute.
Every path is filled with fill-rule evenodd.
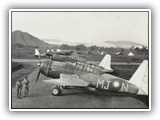
<svg viewBox="0 0 160 120"><path fill-rule="evenodd" d="M12 34L12 12L148 12L148 50L149 50L149 106L148 109L23 109L23 108L12 108L12 98L11 98L11 79L12 79L12 70L11 70L11 34ZM10 9L9 10L9 110L10 111L150 111L151 110L151 10L150 9Z"/></svg>

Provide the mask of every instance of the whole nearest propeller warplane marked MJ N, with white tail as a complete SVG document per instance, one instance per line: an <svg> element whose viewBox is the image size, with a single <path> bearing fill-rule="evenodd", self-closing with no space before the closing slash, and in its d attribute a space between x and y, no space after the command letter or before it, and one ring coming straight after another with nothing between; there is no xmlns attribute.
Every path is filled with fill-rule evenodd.
<svg viewBox="0 0 160 120"><path fill-rule="evenodd" d="M106 61L106 58L100 63L101 66L82 62L45 61L40 64L36 82L40 73L50 77L51 79L43 81L53 85L51 91L54 96L60 95L64 87L91 88L95 90L148 95L147 60L141 63L129 81L108 74L107 69L102 67L104 61Z"/></svg>

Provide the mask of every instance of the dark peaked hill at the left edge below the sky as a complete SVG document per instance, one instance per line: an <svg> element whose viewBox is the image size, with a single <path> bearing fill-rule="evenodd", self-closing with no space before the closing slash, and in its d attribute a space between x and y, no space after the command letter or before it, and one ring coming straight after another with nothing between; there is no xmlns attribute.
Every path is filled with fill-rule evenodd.
<svg viewBox="0 0 160 120"><path fill-rule="evenodd" d="M40 40L29 33L16 30L12 32L12 44L22 44L24 46L51 47L52 45Z"/></svg>

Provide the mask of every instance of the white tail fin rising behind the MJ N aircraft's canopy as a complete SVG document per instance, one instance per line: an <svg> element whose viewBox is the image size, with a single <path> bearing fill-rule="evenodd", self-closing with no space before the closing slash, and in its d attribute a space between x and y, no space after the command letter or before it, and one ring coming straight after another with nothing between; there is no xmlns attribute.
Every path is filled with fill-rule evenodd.
<svg viewBox="0 0 160 120"><path fill-rule="evenodd" d="M111 68L111 55L106 54L99 66L104 67L108 72L113 72L113 69Z"/></svg>

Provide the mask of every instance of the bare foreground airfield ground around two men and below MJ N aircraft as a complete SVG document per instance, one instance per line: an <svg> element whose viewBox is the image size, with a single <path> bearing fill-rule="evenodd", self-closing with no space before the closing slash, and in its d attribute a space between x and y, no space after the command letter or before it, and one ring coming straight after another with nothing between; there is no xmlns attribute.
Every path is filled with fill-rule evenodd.
<svg viewBox="0 0 160 120"><path fill-rule="evenodd" d="M128 94L93 92L85 89L63 89L61 96L51 94L51 84L44 83L43 80L49 79L40 75L36 83L38 74L37 63L28 63L25 66L12 73L12 82L18 77L28 76L30 80L29 95L22 99L17 99L16 88L12 85L12 108L148 108L146 100L148 96L135 96Z"/></svg>

